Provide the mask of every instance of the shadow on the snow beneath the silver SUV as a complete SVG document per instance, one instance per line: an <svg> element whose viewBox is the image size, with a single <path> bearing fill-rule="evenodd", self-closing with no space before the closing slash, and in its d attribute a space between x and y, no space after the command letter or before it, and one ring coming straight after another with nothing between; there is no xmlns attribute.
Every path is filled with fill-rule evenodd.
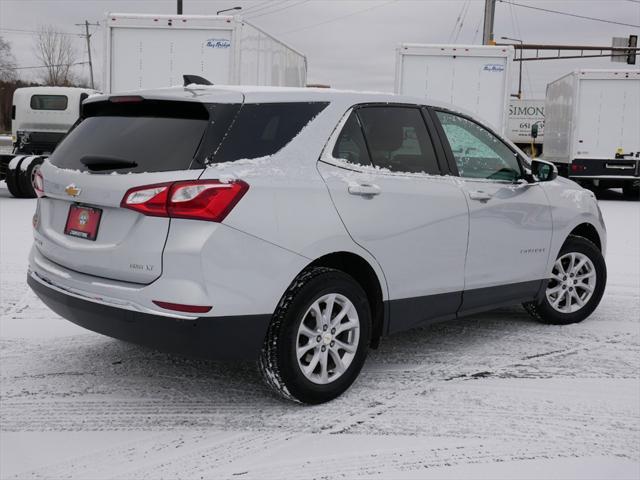
<svg viewBox="0 0 640 480"><path fill-rule="evenodd" d="M495 355L524 355L541 327L548 328L513 307L385 337L377 350L370 350L364 379L343 398L357 398L360 389L370 389L368 377L418 371L421 376L433 374L434 381L446 380L462 370L481 368ZM254 362L187 358L93 334L67 337L64 345L40 345L37 356L43 364L35 370L56 365L55 373L44 373L43 378L67 379L60 385L47 382L53 396L105 393L142 401L198 400L211 406L283 404L263 385Z"/></svg>

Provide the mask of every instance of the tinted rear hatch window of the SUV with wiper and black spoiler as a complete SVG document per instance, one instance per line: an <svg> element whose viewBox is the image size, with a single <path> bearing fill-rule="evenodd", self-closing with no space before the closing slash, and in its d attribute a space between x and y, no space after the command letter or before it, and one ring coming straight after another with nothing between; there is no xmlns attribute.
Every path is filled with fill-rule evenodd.
<svg viewBox="0 0 640 480"><path fill-rule="evenodd" d="M206 106L197 103L96 102L85 110L89 116L51 156L57 167L92 173L189 169L209 123Z"/></svg>

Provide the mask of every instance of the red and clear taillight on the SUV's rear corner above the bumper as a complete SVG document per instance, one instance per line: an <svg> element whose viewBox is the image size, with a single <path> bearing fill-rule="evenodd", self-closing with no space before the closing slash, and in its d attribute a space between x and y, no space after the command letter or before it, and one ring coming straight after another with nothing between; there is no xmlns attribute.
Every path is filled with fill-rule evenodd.
<svg viewBox="0 0 640 480"><path fill-rule="evenodd" d="M135 187L120 203L144 215L221 222L249 189L242 180L191 180Z"/></svg>

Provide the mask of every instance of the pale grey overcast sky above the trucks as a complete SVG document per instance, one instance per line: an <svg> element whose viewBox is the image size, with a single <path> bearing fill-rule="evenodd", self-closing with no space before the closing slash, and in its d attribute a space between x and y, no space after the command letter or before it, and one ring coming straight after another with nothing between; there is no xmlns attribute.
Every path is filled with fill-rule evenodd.
<svg viewBox="0 0 640 480"><path fill-rule="evenodd" d="M559 10L625 24L604 23L537 11ZM337 88L393 90L395 49L401 42L482 43L484 0L184 0L185 14L215 14L242 6L244 17L307 55L308 81ZM105 12L176 12L175 0L0 0L0 35L11 43L19 66L35 66L33 37L42 25L80 33L76 23L101 22ZM466 12L466 13L465 13ZM463 21L460 28L460 22ZM498 0L495 35L527 43L611 45L611 37L640 33L640 0ZM457 26L457 27L456 27ZM22 31L15 31L22 30ZM27 31L25 31L27 30ZM103 33L94 27L92 53L102 82ZM81 60L84 38L72 36ZM526 98L543 98L546 84L577 68L626 68L608 58L527 62ZM634 68L639 68L636 65ZM78 73L88 78L84 66ZM514 89L517 68L513 69ZM34 70L21 70L24 78ZM33 78L33 77L32 77ZM515 91L515 90L514 90Z"/></svg>

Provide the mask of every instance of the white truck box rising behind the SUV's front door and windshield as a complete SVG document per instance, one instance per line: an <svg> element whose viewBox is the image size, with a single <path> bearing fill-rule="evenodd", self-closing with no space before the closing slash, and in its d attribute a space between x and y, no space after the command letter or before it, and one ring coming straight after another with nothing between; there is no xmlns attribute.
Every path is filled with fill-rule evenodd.
<svg viewBox="0 0 640 480"><path fill-rule="evenodd" d="M395 91L464 108L505 133L513 47L403 43Z"/></svg>

